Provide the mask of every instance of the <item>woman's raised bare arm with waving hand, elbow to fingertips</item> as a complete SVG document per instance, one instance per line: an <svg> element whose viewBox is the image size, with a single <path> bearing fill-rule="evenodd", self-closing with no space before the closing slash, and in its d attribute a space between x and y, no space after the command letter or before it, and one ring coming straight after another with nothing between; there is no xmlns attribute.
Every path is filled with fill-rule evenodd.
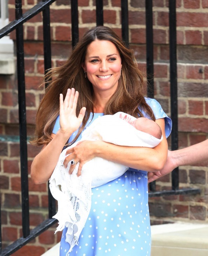
<svg viewBox="0 0 208 256"><path fill-rule="evenodd" d="M79 128L82 123L86 108L80 110L76 117L76 105L78 92L74 88L67 90L65 100L60 95L60 129L47 146L34 158L31 166L31 178L35 184L47 182L58 162L61 151L71 134Z"/></svg>

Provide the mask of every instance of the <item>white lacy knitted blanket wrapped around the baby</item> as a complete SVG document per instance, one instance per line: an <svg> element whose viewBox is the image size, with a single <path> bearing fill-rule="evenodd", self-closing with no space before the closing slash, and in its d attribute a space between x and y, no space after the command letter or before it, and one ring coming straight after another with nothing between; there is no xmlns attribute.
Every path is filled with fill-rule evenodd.
<svg viewBox="0 0 208 256"><path fill-rule="evenodd" d="M141 132L131 124L122 120L118 112L115 115L105 115L97 118L82 133L82 140L102 140L120 146L150 147L157 146L161 139ZM126 114L125 114L126 115ZM136 118L130 115L131 121ZM85 225L91 208L91 187L97 187L114 180L129 168L122 164L110 162L95 157L85 163L81 176L77 177L79 163L73 173L69 174L70 162L67 168L63 166L66 151L77 144L64 149L59 157L53 174L49 179L51 194L58 201L58 211L54 218L58 220L57 231L68 228L66 242L70 243L70 250L77 244L79 235ZM55 233L56 233L55 232Z"/></svg>

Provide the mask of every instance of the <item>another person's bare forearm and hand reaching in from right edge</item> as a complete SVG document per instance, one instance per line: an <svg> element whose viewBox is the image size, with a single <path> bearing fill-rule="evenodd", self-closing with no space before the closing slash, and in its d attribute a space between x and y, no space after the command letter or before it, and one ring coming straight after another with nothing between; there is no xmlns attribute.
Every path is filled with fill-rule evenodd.
<svg viewBox="0 0 208 256"><path fill-rule="evenodd" d="M159 171L148 173L148 182L157 180L178 166L192 165L205 160L208 160L208 140L187 148L174 151L168 150L165 166Z"/></svg>

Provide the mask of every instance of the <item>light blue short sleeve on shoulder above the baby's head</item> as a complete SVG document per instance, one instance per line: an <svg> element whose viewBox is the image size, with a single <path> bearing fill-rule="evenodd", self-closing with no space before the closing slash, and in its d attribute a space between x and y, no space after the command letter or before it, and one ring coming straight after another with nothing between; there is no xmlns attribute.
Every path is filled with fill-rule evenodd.
<svg viewBox="0 0 208 256"><path fill-rule="evenodd" d="M155 119L165 119L165 136L167 138L172 130L172 120L166 115L166 113L163 111L160 103L157 100L146 97L145 100L147 104L152 108Z"/></svg>

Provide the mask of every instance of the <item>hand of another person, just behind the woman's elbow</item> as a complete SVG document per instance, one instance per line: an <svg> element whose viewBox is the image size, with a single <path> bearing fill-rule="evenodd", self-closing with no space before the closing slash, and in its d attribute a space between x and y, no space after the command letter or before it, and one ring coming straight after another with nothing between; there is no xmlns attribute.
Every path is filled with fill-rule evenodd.
<svg viewBox="0 0 208 256"><path fill-rule="evenodd" d="M165 166L160 171L150 171L148 172L148 183L157 180L158 178L167 175L168 173L171 173L172 170L174 170L177 167L177 164L172 157L172 151L168 150L167 155L167 161L165 163Z"/></svg>

